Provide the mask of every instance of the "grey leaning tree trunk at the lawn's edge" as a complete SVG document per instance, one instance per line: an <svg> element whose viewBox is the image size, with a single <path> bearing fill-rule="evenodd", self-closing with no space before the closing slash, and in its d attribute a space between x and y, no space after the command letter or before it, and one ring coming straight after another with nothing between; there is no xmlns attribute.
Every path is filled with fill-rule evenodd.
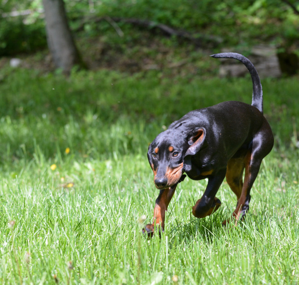
<svg viewBox="0 0 299 285"><path fill-rule="evenodd" d="M42 2L45 10L48 47L55 65L66 73L69 73L75 64L83 67L83 61L68 26L63 0Z"/></svg>

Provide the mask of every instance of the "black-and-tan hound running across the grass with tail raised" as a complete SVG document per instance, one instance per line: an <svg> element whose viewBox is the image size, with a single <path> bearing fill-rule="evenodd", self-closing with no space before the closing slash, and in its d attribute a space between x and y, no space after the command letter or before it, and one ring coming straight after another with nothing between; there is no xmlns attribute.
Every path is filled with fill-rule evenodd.
<svg viewBox="0 0 299 285"><path fill-rule="evenodd" d="M205 192L192 207L196 218L209 216L220 207L216 193L226 177L237 196L237 207L233 218L222 224L230 221L237 224L249 209L250 190L262 159L273 147L273 133L263 116L262 85L254 65L234 52L211 56L234 58L246 66L253 84L252 103L225 101L190 111L152 141L147 157L160 193L155 202L154 221L142 230L149 238L155 228L160 233L164 230L165 211L186 174L193 180L208 178Z"/></svg>

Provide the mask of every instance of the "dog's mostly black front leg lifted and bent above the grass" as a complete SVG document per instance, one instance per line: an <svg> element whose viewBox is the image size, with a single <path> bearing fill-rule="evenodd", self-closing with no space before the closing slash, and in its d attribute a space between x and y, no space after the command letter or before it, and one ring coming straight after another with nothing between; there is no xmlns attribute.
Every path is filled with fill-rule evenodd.
<svg viewBox="0 0 299 285"><path fill-rule="evenodd" d="M224 177L226 169L218 171L209 177L207 188L195 205L192 207L192 213L196 218L210 216L221 205L221 201L215 197Z"/></svg>

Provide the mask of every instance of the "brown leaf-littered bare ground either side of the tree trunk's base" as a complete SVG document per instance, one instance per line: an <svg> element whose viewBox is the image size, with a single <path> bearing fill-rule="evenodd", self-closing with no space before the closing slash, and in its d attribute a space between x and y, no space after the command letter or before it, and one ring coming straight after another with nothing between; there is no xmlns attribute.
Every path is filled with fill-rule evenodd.
<svg viewBox="0 0 299 285"><path fill-rule="evenodd" d="M136 34L136 33L135 33ZM163 70L163 76L188 76L211 72L217 63L206 63L213 51L202 50L187 41L155 36L142 32L123 38L94 36L78 38L77 46L83 60L91 70L109 69L133 74L149 70ZM40 72L55 70L48 49L31 55L16 56L22 60L20 67ZM0 58L0 68L9 65L11 58Z"/></svg>

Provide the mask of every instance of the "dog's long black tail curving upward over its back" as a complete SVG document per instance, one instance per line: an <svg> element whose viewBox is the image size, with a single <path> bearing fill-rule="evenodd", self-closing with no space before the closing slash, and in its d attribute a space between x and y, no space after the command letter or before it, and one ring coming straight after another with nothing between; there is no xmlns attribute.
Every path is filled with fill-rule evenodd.
<svg viewBox="0 0 299 285"><path fill-rule="evenodd" d="M257 74L257 70L255 69L254 65L251 63L251 61L248 58L245 58L245 56L240 55L236 52L222 52L222 53L216 53L215 55L211 55L213 58L234 58L238 61L241 61L249 70L251 79L252 79L252 85L253 85L253 93L252 93L252 102L251 105L257 107L262 113L263 113L263 90L262 90L262 84L260 81L260 77Z"/></svg>

